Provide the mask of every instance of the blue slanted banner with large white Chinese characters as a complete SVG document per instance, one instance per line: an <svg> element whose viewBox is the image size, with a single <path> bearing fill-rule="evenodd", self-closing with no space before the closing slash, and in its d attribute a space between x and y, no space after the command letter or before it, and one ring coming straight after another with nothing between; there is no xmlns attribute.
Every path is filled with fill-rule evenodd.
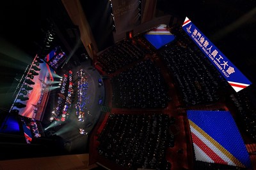
<svg viewBox="0 0 256 170"><path fill-rule="evenodd" d="M237 69L214 44L186 17L182 28L189 35L196 45L202 50L205 56L220 71L228 83L236 92L243 90L252 83Z"/></svg>

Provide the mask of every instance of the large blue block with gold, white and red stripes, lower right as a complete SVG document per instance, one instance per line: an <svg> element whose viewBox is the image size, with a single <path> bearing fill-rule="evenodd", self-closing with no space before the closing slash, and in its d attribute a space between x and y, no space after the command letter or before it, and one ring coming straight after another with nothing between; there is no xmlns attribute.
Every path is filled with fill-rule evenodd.
<svg viewBox="0 0 256 170"><path fill-rule="evenodd" d="M250 157L228 111L188 112L196 160L250 167Z"/></svg>

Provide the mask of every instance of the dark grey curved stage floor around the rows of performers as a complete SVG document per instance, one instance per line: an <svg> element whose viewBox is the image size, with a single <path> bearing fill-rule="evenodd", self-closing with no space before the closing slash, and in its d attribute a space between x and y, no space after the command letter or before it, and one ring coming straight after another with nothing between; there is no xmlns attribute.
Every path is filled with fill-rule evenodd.
<svg viewBox="0 0 256 170"><path fill-rule="evenodd" d="M69 64L69 69L73 72L75 94L75 100L72 101L72 112L69 113L68 119L65 120L65 122L59 121L57 122L56 126L47 129L45 131L45 136L56 134L57 136L63 138L65 150L67 153L87 153L90 132L92 131L94 125L97 124L97 120L100 117L102 104L104 105L104 82L102 81L102 85L99 85L99 78L101 79L101 76L97 69L91 65L89 60L81 62L81 65L79 64L79 66L73 66L72 64ZM77 99L77 71L80 69L83 69L89 83L87 96L89 96L90 99L88 99L89 103L87 105L86 111L88 111L90 115L85 116L84 122L78 121L76 109L74 108ZM102 99L102 104L99 104L99 99ZM49 103L51 103L51 101L49 101ZM49 124L52 124L49 122L49 117L51 117L50 114L44 117L44 128L49 126ZM85 134L79 133L80 128L84 129ZM88 132L88 134L86 134L86 132Z"/></svg>

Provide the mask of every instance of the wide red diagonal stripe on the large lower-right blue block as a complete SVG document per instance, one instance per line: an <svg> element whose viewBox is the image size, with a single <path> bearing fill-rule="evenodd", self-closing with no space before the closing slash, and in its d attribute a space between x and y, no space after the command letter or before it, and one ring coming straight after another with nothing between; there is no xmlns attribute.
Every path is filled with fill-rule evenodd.
<svg viewBox="0 0 256 170"><path fill-rule="evenodd" d="M215 163L227 164L219 155L211 150L200 138L198 138L193 132L191 132L193 143L195 143L208 157L210 157Z"/></svg>

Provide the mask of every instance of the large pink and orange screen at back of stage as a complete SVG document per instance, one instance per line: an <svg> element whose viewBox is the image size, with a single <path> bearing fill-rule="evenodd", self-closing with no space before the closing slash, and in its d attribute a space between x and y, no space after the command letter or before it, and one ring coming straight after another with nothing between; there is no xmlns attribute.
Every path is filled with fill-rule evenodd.
<svg viewBox="0 0 256 170"><path fill-rule="evenodd" d="M22 104L23 106L20 107L14 104L11 110L18 110L19 115L24 117L41 120L42 115L44 115L46 103L49 99L49 89L51 89L51 83L53 81L52 73L54 73L54 71L44 61L35 67L35 59L15 99L15 103L20 103L20 105ZM32 69L33 66L35 69ZM31 74L33 79L29 78L31 71L34 71L34 73ZM25 86L32 87L33 89L28 90ZM22 98L19 96L22 96Z"/></svg>

